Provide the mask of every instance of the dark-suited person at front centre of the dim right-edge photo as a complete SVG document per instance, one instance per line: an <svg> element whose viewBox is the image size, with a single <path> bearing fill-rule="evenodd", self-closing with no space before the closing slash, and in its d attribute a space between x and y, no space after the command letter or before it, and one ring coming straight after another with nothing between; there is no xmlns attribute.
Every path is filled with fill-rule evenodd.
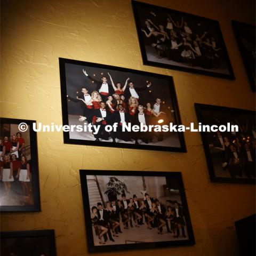
<svg viewBox="0 0 256 256"><path fill-rule="evenodd" d="M222 163L223 169L228 169L231 178L236 178L238 174L239 177L242 177L242 168L241 168L241 159L240 153L236 150L234 145L229 146L229 150L225 154L225 162Z"/></svg>

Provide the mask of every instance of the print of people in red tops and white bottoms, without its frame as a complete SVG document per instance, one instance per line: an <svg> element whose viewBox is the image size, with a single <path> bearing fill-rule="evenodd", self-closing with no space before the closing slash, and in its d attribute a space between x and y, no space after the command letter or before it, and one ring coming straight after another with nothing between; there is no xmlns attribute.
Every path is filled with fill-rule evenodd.
<svg viewBox="0 0 256 256"><path fill-rule="evenodd" d="M0 203L33 205L29 127L20 132L18 124L1 122L0 131Z"/></svg>

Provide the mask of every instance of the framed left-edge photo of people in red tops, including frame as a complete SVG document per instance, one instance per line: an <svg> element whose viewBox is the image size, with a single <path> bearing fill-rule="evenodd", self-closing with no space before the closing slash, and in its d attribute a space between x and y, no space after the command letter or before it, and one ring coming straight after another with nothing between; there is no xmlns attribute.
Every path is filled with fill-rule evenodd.
<svg viewBox="0 0 256 256"><path fill-rule="evenodd" d="M39 212L36 121L0 118L0 211Z"/></svg>

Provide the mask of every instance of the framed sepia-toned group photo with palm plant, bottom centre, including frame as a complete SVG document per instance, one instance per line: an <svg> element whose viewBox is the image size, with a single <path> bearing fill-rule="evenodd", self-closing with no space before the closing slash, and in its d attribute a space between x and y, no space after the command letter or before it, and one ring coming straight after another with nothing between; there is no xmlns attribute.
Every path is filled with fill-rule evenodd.
<svg viewBox="0 0 256 256"><path fill-rule="evenodd" d="M89 252L195 244L180 172L80 170Z"/></svg>

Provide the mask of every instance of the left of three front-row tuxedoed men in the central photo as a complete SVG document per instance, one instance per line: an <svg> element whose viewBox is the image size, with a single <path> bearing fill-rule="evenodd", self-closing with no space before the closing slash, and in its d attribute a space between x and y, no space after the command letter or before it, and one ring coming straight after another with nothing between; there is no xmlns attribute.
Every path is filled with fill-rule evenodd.
<svg viewBox="0 0 256 256"><path fill-rule="evenodd" d="M94 110L92 118L92 124L100 126L99 132L97 134L94 134L94 137L96 138L95 141L100 141L100 139L108 140L108 138L110 137L110 133L105 130L105 126L108 123L111 123L110 120L111 114L109 113L109 111L106 111L106 104L101 101L100 108Z"/></svg>

